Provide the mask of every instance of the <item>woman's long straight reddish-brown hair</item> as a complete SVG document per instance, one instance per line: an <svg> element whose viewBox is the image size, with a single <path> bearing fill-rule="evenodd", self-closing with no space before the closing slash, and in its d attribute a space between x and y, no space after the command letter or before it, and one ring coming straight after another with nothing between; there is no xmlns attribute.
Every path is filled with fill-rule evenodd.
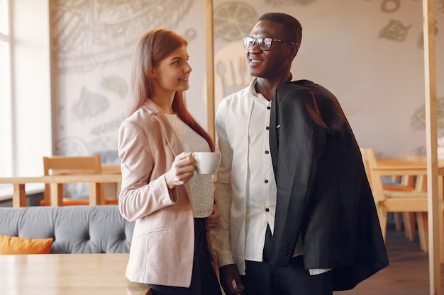
<svg viewBox="0 0 444 295"><path fill-rule="evenodd" d="M132 97L130 115L142 107L145 101L152 96L152 81L149 76L152 69L159 66L162 59L165 59L168 54L179 47L187 45L188 42L184 37L177 35L171 30L162 28L149 30L140 37L133 54L133 66L131 69ZM188 111L182 91L177 91L174 94L172 108L189 127L206 139L210 150L215 151L213 139Z"/></svg>

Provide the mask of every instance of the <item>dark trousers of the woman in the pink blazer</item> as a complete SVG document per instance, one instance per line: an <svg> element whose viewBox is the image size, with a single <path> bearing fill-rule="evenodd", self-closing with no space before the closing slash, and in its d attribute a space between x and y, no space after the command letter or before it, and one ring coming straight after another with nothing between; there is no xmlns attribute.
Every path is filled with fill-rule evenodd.
<svg viewBox="0 0 444 295"><path fill-rule="evenodd" d="M194 259L192 283L189 288L148 284L152 295L222 295L218 278L206 248L205 219L194 219Z"/></svg>

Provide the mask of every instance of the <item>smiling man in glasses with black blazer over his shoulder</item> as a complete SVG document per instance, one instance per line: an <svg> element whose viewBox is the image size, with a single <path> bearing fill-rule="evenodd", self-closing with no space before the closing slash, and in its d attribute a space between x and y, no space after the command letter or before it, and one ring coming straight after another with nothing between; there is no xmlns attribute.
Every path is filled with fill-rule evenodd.
<svg viewBox="0 0 444 295"><path fill-rule="evenodd" d="M227 295L331 295L388 265L338 100L311 81L292 81L301 35L292 16L261 16L243 39L255 78L216 114L213 245Z"/></svg>

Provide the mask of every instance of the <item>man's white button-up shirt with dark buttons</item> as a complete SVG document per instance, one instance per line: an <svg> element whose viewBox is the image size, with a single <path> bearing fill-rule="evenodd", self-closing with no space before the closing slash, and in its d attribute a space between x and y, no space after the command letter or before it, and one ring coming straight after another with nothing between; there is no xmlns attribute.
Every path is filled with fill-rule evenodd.
<svg viewBox="0 0 444 295"><path fill-rule="evenodd" d="M267 224L274 229L276 182L268 127L271 102L250 86L226 97L216 113L216 144L222 153L215 182L221 221L213 231L219 267L262 261ZM301 255L301 239L294 256Z"/></svg>

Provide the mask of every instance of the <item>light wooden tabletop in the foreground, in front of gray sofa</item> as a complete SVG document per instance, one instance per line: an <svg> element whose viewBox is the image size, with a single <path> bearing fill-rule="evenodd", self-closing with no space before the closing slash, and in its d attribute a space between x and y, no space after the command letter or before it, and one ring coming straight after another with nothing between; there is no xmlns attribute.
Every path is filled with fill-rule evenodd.
<svg viewBox="0 0 444 295"><path fill-rule="evenodd" d="M2 295L149 295L125 277L128 254L0 255Z"/></svg>

